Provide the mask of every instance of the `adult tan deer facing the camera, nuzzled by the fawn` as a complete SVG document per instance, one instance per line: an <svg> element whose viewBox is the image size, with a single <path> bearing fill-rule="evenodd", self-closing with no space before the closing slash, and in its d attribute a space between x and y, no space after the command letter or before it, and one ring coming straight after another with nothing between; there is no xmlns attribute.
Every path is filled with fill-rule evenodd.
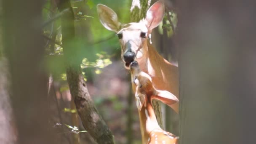
<svg viewBox="0 0 256 144"><path fill-rule="evenodd" d="M179 97L178 68L163 59L147 40L152 29L163 20L165 14L163 2L157 1L153 4L147 11L145 19L128 24L121 24L117 14L106 5L98 4L97 11L101 24L106 29L116 32L119 37L125 68L130 69L130 63L134 60L138 61L140 69L152 78L155 88L170 91ZM133 91L135 91L134 85ZM176 112L179 111L178 103L171 107Z"/></svg>

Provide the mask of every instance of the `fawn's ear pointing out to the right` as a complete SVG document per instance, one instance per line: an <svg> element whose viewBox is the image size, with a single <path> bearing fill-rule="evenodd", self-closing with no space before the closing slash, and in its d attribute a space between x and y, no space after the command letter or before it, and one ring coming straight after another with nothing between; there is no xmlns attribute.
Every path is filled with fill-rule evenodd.
<svg viewBox="0 0 256 144"><path fill-rule="evenodd" d="M175 104L178 102L178 98L174 96L172 93L169 91L160 91L160 90L155 90L155 95L152 96L152 99L157 99L162 101L164 104L167 104L170 106L171 104Z"/></svg>

